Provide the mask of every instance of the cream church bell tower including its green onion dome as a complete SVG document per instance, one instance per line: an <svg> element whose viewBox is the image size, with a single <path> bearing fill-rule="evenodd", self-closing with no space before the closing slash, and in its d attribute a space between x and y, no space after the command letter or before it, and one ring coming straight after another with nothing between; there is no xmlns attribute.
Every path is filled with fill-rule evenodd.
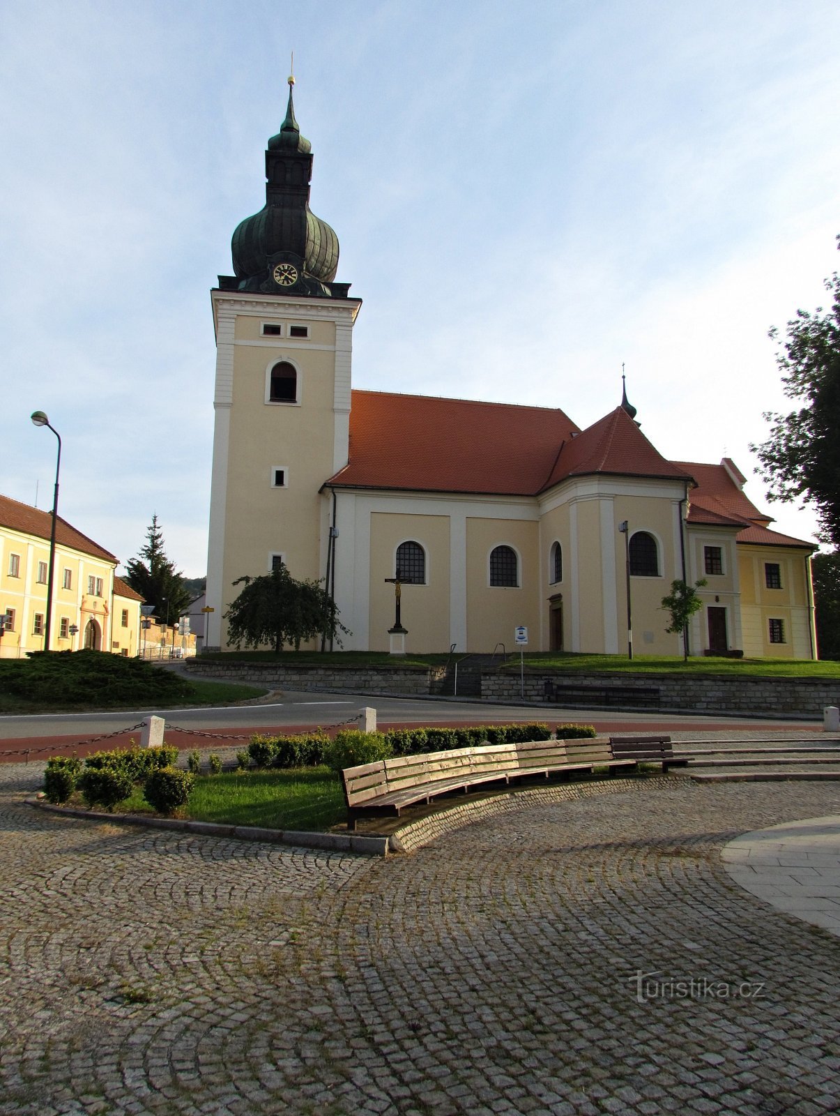
<svg viewBox="0 0 840 1116"><path fill-rule="evenodd" d="M265 204L233 233L233 276L212 291L215 426L205 648L226 646L233 581L282 562L325 576L324 482L347 464L353 326L361 302L335 282L338 238L309 209L311 144L292 86L265 151Z"/></svg>

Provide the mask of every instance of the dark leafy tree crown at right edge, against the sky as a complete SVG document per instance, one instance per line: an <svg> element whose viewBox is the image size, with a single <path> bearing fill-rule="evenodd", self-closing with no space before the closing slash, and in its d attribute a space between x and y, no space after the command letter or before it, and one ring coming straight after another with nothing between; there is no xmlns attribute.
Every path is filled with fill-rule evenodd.
<svg viewBox="0 0 840 1116"><path fill-rule="evenodd" d="M840 237L838 238L840 240ZM840 244L838 244L840 247ZM769 500L802 500L817 509L823 542L840 546L840 276L825 280L832 296L828 311L796 310L779 341L776 364L784 394L799 401L799 411L765 412L770 437L750 449L761 462L756 472L770 485Z"/></svg>

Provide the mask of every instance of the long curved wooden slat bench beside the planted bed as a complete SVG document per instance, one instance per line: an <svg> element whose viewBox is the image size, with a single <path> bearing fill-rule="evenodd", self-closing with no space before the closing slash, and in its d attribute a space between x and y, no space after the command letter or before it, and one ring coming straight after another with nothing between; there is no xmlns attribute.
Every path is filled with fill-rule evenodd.
<svg viewBox="0 0 840 1116"><path fill-rule="evenodd" d="M634 769L633 757L616 757L607 737L585 740L533 740L518 744L482 744L445 752L399 756L361 763L341 772L347 824L356 828L361 814L395 814L440 795L467 791L481 783L529 776L591 771L595 767Z"/></svg>

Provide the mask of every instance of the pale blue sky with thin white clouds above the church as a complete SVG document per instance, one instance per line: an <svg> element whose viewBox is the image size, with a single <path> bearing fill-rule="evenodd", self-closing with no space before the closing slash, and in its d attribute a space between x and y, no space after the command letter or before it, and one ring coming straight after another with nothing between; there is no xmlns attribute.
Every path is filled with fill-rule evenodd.
<svg viewBox="0 0 840 1116"><path fill-rule="evenodd" d="M792 410L767 330L840 270L837 0L3 0L0 492L206 571L210 289L295 105L364 300L354 386L627 393L672 460Z"/></svg>

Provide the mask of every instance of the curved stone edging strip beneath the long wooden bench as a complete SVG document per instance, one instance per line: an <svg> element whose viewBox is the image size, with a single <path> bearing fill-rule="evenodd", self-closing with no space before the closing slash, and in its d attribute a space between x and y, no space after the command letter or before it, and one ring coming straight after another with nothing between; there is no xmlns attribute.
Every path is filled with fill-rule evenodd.
<svg viewBox="0 0 840 1116"><path fill-rule="evenodd" d="M452 809L429 814L417 821L407 821L389 838L392 853L413 853L423 845L442 837L455 829L463 829L476 821L484 821L498 814L509 814L523 810L530 806L545 806L553 802L571 801L589 798L595 795L614 795L627 790L640 790L647 787L673 786L673 776L650 776L644 779L607 778L581 783L559 783L553 787L540 787L531 790L511 790L477 802L463 802Z"/></svg>

